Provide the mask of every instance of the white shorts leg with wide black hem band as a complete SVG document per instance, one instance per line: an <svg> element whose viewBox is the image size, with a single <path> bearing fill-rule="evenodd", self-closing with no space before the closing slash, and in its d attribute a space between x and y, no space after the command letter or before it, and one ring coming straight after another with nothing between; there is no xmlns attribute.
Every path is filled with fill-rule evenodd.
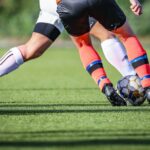
<svg viewBox="0 0 150 150"><path fill-rule="evenodd" d="M40 13L33 32L45 35L54 41L64 30L64 26L56 12L57 4L55 0L39 0Z"/></svg>

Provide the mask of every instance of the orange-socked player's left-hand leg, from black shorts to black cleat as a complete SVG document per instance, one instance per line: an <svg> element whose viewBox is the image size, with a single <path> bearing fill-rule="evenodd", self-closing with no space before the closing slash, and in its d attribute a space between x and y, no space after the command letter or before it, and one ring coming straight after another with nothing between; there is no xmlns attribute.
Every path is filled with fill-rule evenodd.
<svg viewBox="0 0 150 150"><path fill-rule="evenodd" d="M101 58L94 50L89 36L89 20L86 1L61 1L57 12L76 43L81 61L112 105L124 106L126 102L116 93L102 66ZM76 11L78 9L78 11Z"/></svg>

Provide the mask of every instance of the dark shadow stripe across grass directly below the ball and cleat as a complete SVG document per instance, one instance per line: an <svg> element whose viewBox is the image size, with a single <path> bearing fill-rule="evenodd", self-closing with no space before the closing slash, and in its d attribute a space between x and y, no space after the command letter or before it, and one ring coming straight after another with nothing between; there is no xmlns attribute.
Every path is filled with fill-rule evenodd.
<svg viewBox="0 0 150 150"><path fill-rule="evenodd" d="M148 107L91 107L87 104L88 108L86 108L86 104L69 104L69 107L65 107L66 104L55 104L45 106L43 105L0 105L0 115L33 115L33 114L51 114L51 113L102 113L102 112L150 112L150 108ZM67 105L68 106L68 105ZM78 106L78 107L73 107ZM81 106L81 107L79 107ZM98 106L98 104L97 104ZM43 108L42 108L43 107Z"/></svg>

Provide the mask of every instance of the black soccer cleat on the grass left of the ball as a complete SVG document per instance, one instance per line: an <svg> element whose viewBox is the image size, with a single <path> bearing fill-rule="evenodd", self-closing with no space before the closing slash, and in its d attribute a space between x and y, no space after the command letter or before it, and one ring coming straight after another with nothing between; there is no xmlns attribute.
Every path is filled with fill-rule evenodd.
<svg viewBox="0 0 150 150"><path fill-rule="evenodd" d="M118 95L112 84L106 84L102 90L112 106L127 106L126 101Z"/></svg>

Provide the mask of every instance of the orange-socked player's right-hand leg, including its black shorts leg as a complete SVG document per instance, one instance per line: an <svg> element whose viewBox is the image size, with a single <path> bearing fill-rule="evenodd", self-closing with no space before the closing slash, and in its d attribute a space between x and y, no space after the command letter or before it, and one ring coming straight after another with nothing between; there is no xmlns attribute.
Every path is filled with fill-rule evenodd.
<svg viewBox="0 0 150 150"><path fill-rule="evenodd" d="M142 80L142 86L147 91L150 87L150 69L149 63L147 59L147 55L143 47L141 46L139 40L134 34L131 34L131 29L126 23L126 16L117 3L113 1L105 1L106 6L101 8L101 14L95 13L95 18L102 23L102 25L114 32L119 33L120 35L128 35L122 40L128 54L128 59L131 62L133 68L135 69L136 73ZM107 12L111 13L105 13ZM98 11L98 10L97 10ZM91 12L93 13L93 12ZM108 18L108 19L105 19ZM129 36L131 34L131 36ZM149 93L149 92L147 92ZM149 95L147 94L147 98L149 99Z"/></svg>

